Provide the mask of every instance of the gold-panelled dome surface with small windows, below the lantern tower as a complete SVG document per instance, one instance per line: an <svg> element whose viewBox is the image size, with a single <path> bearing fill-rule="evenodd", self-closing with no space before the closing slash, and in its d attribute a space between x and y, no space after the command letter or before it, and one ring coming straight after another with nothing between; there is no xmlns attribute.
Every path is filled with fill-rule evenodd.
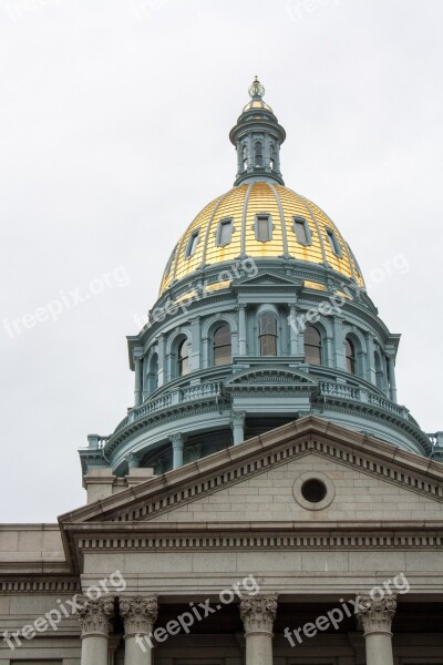
<svg viewBox="0 0 443 665"><path fill-rule="evenodd" d="M257 217L269 219L266 242L257 238ZM230 242L224 245L219 242L222 221L231 221ZM240 256L328 265L364 286L349 245L322 209L282 185L253 182L218 196L195 217L167 263L159 293L203 266Z"/></svg>

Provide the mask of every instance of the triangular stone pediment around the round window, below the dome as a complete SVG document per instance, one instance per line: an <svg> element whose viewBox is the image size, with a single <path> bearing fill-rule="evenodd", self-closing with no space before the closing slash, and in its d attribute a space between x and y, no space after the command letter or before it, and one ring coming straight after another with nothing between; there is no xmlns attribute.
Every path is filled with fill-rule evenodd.
<svg viewBox="0 0 443 665"><path fill-rule="evenodd" d="M293 494L307 471L330 478L337 497L315 516ZM309 416L62 515L60 524L69 531L74 524L337 524L442 515L443 464Z"/></svg>

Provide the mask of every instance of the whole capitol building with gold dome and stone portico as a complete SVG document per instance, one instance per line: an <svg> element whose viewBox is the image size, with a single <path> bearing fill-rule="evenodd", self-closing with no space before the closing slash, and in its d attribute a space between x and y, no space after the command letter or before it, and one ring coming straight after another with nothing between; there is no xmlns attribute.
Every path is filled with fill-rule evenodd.
<svg viewBox="0 0 443 665"><path fill-rule="evenodd" d="M0 525L0 665L443 665L443 432L249 96L233 188L127 338L134 403L80 450L87 502Z"/></svg>

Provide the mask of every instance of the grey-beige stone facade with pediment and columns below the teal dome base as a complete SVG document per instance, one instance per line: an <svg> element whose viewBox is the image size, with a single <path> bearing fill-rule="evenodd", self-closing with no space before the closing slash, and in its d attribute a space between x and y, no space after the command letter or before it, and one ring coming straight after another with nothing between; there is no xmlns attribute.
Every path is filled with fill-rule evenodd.
<svg viewBox="0 0 443 665"><path fill-rule="evenodd" d="M326 508L298 503L306 473L330 478ZM125 652L161 665L437 664L442 502L439 462L295 421L122 488L60 528L3 528L0 622L14 648L3 641L0 663L87 665L110 651L115 665ZM13 636L47 613L56 620L76 593L56 630ZM91 593L100 597L84 602ZM340 608L337 630L323 630Z"/></svg>

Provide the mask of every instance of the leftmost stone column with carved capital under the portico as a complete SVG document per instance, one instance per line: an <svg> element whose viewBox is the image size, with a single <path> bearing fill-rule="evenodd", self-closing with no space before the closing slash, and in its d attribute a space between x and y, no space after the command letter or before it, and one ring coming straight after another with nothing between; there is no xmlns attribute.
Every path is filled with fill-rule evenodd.
<svg viewBox="0 0 443 665"><path fill-rule="evenodd" d="M107 638L114 616L114 598L78 601L76 616L82 626L81 665L107 665Z"/></svg>

